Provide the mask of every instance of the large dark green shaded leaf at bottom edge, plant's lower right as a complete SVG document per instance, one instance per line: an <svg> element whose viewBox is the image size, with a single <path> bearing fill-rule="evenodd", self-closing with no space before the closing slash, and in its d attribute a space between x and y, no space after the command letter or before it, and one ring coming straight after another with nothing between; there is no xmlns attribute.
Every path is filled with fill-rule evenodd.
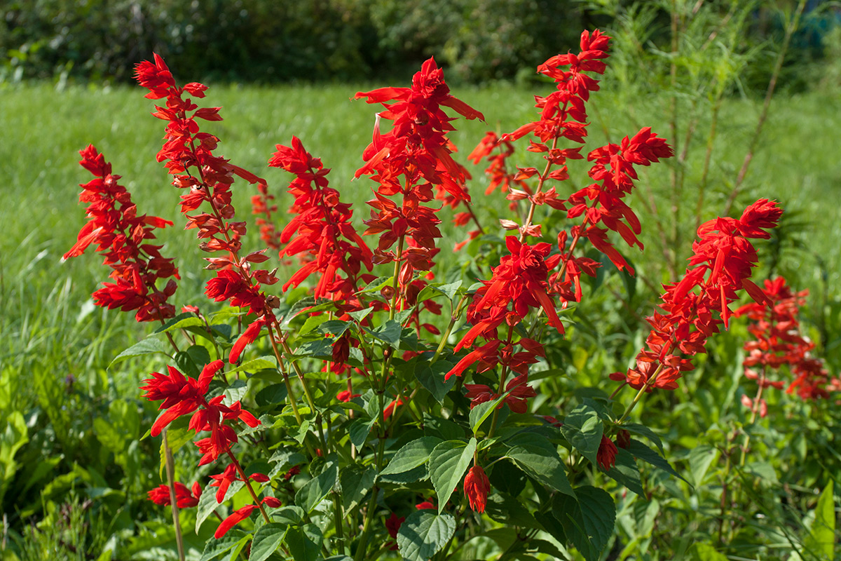
<svg viewBox="0 0 841 561"><path fill-rule="evenodd" d="M606 490L585 485L577 487L578 500L555 495L552 514L563 532L587 561L597 561L607 545L616 522L616 505Z"/></svg>

